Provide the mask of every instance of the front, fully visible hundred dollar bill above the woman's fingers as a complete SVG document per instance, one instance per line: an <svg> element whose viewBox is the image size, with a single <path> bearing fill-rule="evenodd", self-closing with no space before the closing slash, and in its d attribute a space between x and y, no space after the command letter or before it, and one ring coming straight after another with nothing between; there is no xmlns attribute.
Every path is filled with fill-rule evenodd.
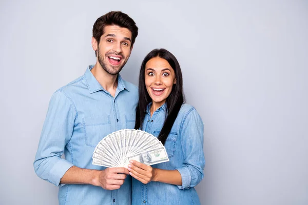
<svg viewBox="0 0 308 205"><path fill-rule="evenodd" d="M141 163L144 163L145 165L149 165L149 166L155 165L157 163L169 161L167 152L164 147L129 156L124 161L124 167L127 167L129 164L129 160L132 160L132 159L139 161Z"/></svg>

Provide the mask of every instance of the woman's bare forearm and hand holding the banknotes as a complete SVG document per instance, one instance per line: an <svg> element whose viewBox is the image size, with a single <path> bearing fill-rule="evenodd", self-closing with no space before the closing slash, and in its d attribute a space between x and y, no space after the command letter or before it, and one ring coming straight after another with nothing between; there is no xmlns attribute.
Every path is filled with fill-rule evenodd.
<svg viewBox="0 0 308 205"><path fill-rule="evenodd" d="M170 183L171 185L182 185L182 177L178 170L162 170L152 168L144 163L131 160L128 165L129 174L146 184L150 181L159 181L163 183Z"/></svg>

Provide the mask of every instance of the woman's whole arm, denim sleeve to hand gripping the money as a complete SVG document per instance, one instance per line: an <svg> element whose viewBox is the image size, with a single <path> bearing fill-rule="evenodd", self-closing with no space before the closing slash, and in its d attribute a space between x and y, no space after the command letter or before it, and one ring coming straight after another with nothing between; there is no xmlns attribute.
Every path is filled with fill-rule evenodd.
<svg viewBox="0 0 308 205"><path fill-rule="evenodd" d="M180 135L184 155L182 167L175 170L160 170L133 161L132 165L129 165L131 167L128 167L130 168L128 169L130 175L142 183L160 181L178 185L179 189L188 189L198 185L204 176L205 159L203 153L203 122L195 108L191 108L184 117Z"/></svg>

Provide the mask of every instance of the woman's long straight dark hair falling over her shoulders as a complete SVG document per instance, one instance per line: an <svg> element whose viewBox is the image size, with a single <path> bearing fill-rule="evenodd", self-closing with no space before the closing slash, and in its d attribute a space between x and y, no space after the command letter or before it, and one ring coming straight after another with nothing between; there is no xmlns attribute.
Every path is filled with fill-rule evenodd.
<svg viewBox="0 0 308 205"><path fill-rule="evenodd" d="M160 57L167 60L172 69L174 69L177 79L177 83L172 86L171 93L166 99L167 115L163 128L158 135L158 139L162 142L163 145L165 145L165 141L185 100L183 94L183 77L180 64L177 58L166 49L154 49L149 52L142 61L139 73L139 103L136 110L135 129L142 127L147 105L152 101L145 87L145 65L147 61L153 57Z"/></svg>

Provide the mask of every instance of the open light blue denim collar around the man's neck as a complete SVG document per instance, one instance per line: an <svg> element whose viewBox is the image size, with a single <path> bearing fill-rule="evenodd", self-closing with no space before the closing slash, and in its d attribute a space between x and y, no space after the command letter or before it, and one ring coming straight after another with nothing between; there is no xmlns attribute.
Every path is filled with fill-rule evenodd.
<svg viewBox="0 0 308 205"><path fill-rule="evenodd" d="M106 91L101 84L98 82L98 80L94 77L94 75L91 73L92 68L94 67L94 65L90 65L88 66L84 76L86 79L86 83L88 86L88 89L90 91L90 93L94 93L97 92L99 90L103 90L104 92L108 93L108 91ZM125 81L123 80L123 78L121 77L120 74L118 74L118 87L117 90L122 91L124 89L126 89L127 91L129 91L125 85Z"/></svg>

